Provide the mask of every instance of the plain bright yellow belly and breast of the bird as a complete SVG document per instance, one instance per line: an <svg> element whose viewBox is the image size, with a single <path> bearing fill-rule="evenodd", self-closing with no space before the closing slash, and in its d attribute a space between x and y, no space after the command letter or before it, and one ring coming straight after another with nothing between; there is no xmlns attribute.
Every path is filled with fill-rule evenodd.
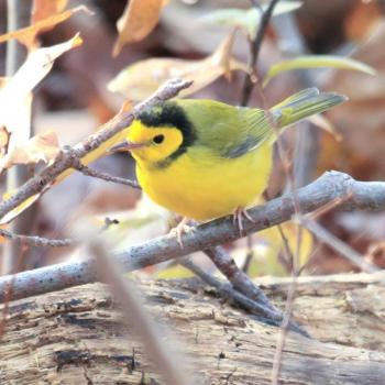
<svg viewBox="0 0 385 385"><path fill-rule="evenodd" d="M199 221L253 204L266 188L271 168L272 147L267 142L231 160L212 158L196 148L161 169L136 163L138 179L151 199Z"/></svg>

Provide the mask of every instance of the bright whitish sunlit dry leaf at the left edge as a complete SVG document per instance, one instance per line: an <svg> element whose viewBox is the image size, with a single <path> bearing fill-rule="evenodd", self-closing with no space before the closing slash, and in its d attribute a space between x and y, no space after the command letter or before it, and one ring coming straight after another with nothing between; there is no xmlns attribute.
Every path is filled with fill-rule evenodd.
<svg viewBox="0 0 385 385"><path fill-rule="evenodd" d="M0 89L0 127L11 133L10 150L26 143L30 138L31 91L50 73L58 56L79 44L81 38L77 34L67 42L31 52L16 74Z"/></svg>

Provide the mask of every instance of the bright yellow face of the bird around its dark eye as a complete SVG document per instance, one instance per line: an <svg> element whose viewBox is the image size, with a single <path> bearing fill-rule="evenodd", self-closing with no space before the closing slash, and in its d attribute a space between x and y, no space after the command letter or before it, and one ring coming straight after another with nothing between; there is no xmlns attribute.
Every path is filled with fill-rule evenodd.
<svg viewBox="0 0 385 385"><path fill-rule="evenodd" d="M136 161L158 163L179 148L183 135L178 129L173 127L148 128L135 120L131 124L127 140L129 143L143 144L141 147L131 150Z"/></svg>

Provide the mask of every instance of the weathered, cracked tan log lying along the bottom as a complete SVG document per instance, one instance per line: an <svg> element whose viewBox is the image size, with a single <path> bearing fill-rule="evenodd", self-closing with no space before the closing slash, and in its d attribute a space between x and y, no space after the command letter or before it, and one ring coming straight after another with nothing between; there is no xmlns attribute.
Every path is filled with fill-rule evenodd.
<svg viewBox="0 0 385 385"><path fill-rule="evenodd" d="M260 283L283 308L289 279ZM141 282L157 320L168 323L197 384L270 384L279 329L263 324L194 280ZM385 382L385 273L305 277L282 384ZM164 341L169 343L169 341ZM0 344L1 384L156 384L158 375L101 284L10 302Z"/></svg>

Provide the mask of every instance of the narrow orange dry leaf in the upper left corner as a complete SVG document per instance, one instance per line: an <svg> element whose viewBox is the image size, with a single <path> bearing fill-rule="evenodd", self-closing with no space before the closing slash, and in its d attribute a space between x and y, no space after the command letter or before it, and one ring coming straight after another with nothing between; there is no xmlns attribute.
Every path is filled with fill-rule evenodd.
<svg viewBox="0 0 385 385"><path fill-rule="evenodd" d="M24 44L29 50L34 50L36 48L36 35L41 31L46 31L54 28L56 24L62 23L63 21L70 18L74 13L79 11L89 12L88 9L84 6L73 8L62 13L54 14L51 18L41 20L35 24L26 26L25 29L12 31L3 35L0 35L0 43L7 42L10 38L16 38L20 43Z"/></svg>

